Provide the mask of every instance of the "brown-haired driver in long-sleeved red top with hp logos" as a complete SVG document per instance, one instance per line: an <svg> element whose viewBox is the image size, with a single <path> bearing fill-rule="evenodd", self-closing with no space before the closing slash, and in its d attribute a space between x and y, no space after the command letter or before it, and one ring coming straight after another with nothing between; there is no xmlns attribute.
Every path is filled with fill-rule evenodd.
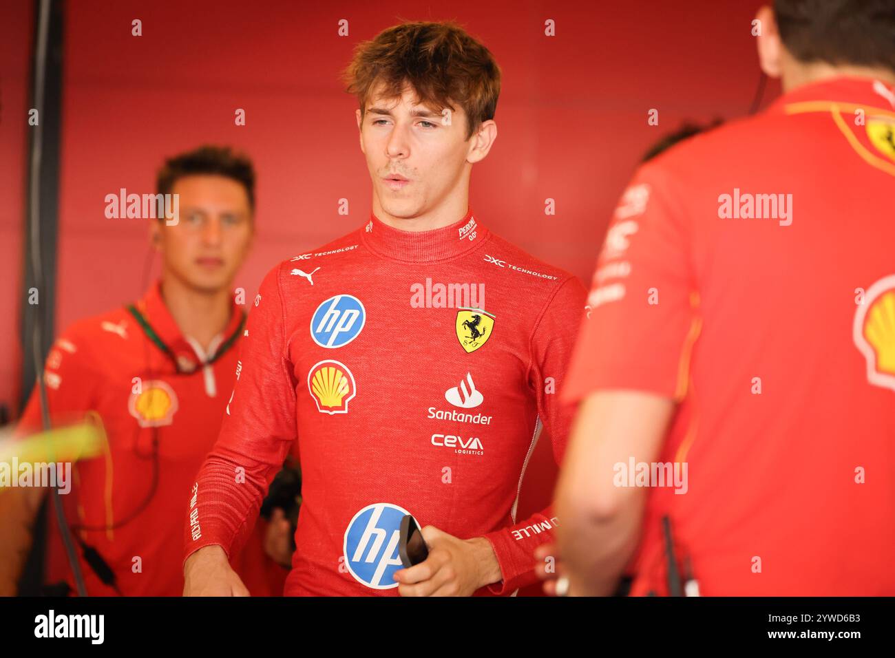
<svg viewBox="0 0 895 658"><path fill-rule="evenodd" d="M372 213L260 286L192 490L184 592L244 594L227 556L297 440L286 594L511 594L535 580L533 549L557 524L550 508L517 520L516 499L541 424L562 456L570 414L555 391L584 286L469 209L497 137L485 47L451 23L406 23L362 44L347 78ZM407 513L430 552L400 568Z"/></svg>

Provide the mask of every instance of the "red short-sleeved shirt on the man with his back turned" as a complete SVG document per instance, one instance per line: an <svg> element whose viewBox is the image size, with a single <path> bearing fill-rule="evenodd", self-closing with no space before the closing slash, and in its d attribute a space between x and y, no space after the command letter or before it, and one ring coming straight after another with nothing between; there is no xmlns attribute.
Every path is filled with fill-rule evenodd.
<svg viewBox="0 0 895 658"><path fill-rule="evenodd" d="M891 87L823 81L624 193L563 396L680 401L635 594L667 592L666 514L702 594L895 593L893 129Z"/></svg>

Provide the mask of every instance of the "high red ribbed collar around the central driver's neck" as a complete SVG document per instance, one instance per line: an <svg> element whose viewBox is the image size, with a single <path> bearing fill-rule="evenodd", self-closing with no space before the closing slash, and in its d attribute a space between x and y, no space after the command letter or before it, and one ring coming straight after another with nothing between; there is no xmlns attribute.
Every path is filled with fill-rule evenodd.
<svg viewBox="0 0 895 658"><path fill-rule="evenodd" d="M472 209L465 216L442 228L430 231L403 231L384 224L372 212L362 233L363 243L379 255L396 261L446 261L470 252L482 244L488 229L473 217Z"/></svg>

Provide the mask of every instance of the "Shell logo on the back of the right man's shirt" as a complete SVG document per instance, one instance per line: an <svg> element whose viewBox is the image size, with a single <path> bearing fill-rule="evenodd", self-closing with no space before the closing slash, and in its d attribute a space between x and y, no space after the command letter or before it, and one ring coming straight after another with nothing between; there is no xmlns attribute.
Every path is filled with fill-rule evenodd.
<svg viewBox="0 0 895 658"><path fill-rule="evenodd" d="M867 290L855 312L852 335L867 362L867 381L895 390L895 274Z"/></svg>

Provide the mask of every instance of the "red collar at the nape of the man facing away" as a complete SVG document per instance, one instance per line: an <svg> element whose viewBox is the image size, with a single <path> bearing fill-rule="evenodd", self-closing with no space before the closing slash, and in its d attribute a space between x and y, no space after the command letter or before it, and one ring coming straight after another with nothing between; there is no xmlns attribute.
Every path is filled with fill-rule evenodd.
<svg viewBox="0 0 895 658"><path fill-rule="evenodd" d="M790 90L777 98L768 107L768 112L828 112L833 107L842 110L863 107L895 114L895 89L891 84L874 78L840 76Z"/></svg>

